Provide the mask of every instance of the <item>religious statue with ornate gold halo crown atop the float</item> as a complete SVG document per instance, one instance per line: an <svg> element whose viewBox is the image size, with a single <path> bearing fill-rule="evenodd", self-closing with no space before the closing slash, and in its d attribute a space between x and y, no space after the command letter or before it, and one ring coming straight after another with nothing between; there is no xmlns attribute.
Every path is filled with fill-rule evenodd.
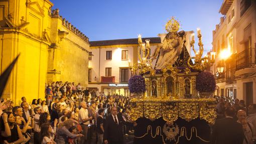
<svg viewBox="0 0 256 144"><path fill-rule="evenodd" d="M172 19L166 24L165 29L168 34L164 38L163 43L157 47L151 56L152 59L158 58L155 69L163 69L169 65L173 65L182 52L185 32L180 31L177 33L179 28L180 24L174 19L174 17L172 17Z"/></svg>

